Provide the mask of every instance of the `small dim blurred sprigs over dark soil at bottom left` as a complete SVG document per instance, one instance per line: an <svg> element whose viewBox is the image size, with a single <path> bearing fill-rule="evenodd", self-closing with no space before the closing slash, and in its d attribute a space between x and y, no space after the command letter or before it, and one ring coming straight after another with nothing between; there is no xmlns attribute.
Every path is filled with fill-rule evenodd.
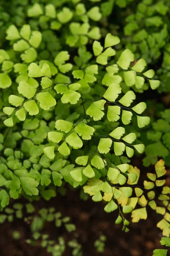
<svg viewBox="0 0 170 256"><path fill-rule="evenodd" d="M57 229L62 229L64 227L65 230L70 233L70 237L71 235L73 236L76 231L76 226L70 223L70 217L63 217L61 212L56 212L54 207L49 207L48 209L41 208L36 212L34 205L31 203L25 205L16 203L13 204L11 208L6 207L4 213L0 214L0 223L3 223L6 220L12 222L15 221L16 218L19 218L20 221L22 221L23 215L25 216L24 221L29 224L31 231L31 237L26 239L28 244L32 246L40 244L42 248L45 248L47 252L51 253L53 256L62 256L68 245L68 247L72 248L71 255L74 256L76 254L82 256L81 245L76 239L69 240L66 243L62 236L57 237L56 241L56 239L50 239L50 234L44 233L45 224L48 223L49 225L51 223ZM17 240L20 239L21 235L15 230L12 233L12 237Z"/></svg>

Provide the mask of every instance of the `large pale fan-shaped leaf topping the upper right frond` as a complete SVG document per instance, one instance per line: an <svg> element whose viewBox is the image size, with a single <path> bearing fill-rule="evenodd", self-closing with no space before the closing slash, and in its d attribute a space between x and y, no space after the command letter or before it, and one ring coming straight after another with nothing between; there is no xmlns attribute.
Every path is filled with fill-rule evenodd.
<svg viewBox="0 0 170 256"><path fill-rule="evenodd" d="M127 70L131 61L134 61L134 54L129 49L125 49L116 63L122 69Z"/></svg>

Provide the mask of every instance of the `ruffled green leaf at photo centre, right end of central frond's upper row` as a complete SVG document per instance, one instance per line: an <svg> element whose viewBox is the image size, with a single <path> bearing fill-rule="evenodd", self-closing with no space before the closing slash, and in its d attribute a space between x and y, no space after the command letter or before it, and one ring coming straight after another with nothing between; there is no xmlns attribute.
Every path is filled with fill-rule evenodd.
<svg viewBox="0 0 170 256"><path fill-rule="evenodd" d="M84 123L77 125L74 128L74 131L79 134L79 136L82 136L83 140L91 140L91 135L94 134L94 128L86 125Z"/></svg>

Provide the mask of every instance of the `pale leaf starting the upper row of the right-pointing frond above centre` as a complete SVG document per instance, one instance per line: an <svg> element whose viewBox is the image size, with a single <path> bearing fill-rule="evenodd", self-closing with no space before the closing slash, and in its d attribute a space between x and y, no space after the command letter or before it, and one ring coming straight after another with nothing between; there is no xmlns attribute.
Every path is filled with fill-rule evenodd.
<svg viewBox="0 0 170 256"><path fill-rule="evenodd" d="M103 97L111 102L115 102L121 91L122 90L119 84L111 84L104 93Z"/></svg>

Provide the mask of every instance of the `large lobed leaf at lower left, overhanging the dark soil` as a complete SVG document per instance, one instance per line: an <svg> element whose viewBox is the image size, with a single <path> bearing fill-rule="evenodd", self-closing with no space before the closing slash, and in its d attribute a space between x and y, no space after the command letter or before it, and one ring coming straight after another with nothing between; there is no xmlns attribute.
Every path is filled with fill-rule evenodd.
<svg viewBox="0 0 170 256"><path fill-rule="evenodd" d="M38 195L38 182L31 177L20 177L21 186L27 195Z"/></svg>

